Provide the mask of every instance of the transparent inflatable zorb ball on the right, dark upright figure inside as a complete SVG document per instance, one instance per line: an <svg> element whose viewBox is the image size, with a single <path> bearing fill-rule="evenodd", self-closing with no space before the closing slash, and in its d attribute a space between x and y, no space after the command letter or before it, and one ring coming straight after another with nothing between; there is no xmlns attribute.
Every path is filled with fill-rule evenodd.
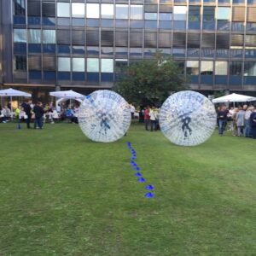
<svg viewBox="0 0 256 256"><path fill-rule="evenodd" d="M204 143L216 127L215 108L206 96L191 90L179 91L160 108L160 129L180 146Z"/></svg>

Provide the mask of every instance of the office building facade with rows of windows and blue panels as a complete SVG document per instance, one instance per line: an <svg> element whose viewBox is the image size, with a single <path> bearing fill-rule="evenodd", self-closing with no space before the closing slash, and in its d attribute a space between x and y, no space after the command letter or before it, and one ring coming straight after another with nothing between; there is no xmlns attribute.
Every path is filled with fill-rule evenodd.
<svg viewBox="0 0 256 256"><path fill-rule="evenodd" d="M193 90L256 91L256 0L2 0L2 87L111 88L172 55Z"/></svg>

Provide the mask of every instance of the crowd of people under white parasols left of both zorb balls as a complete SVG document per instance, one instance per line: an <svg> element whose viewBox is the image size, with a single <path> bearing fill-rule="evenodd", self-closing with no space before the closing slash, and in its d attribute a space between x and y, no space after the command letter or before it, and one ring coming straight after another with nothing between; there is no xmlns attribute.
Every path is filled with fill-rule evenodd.
<svg viewBox="0 0 256 256"><path fill-rule="evenodd" d="M27 129L34 124L34 129L43 129L44 122L49 121L54 124L58 120L68 119L70 123L78 124L79 105L66 105L62 103L59 106L60 112L57 112L53 102L43 105L42 102L33 103L32 100L26 100L19 104L18 108L12 109L10 104L0 105L0 123L8 123L10 119L18 119L19 123L26 123Z"/></svg>

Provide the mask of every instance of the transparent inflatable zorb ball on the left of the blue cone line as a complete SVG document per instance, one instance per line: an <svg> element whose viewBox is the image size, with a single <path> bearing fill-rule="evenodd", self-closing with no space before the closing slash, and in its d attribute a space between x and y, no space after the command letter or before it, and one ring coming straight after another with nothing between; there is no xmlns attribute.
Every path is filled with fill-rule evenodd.
<svg viewBox="0 0 256 256"><path fill-rule="evenodd" d="M123 137L131 124L125 99L111 90L96 90L79 108L79 125L92 141L111 143Z"/></svg>

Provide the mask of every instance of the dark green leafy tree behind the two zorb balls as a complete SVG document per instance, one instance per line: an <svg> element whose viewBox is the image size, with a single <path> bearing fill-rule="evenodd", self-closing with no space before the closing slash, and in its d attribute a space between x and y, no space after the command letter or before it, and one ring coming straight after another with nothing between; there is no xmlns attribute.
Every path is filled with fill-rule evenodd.
<svg viewBox="0 0 256 256"><path fill-rule="evenodd" d="M185 89L184 79L172 58L157 52L154 59L132 63L119 75L113 90L128 102L164 102L173 91Z"/></svg>

